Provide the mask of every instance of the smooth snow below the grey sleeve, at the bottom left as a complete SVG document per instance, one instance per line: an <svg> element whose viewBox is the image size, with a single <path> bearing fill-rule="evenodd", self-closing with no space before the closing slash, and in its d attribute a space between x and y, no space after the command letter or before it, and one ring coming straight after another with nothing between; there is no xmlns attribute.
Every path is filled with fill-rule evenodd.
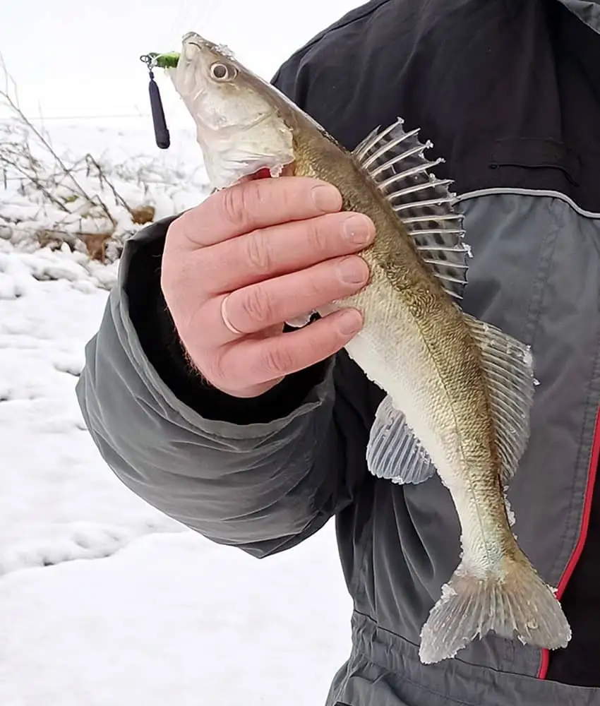
<svg viewBox="0 0 600 706"><path fill-rule="evenodd" d="M349 642L328 550L324 535L257 561L157 533L109 558L12 573L0 581L0 702L323 703Z"/></svg>

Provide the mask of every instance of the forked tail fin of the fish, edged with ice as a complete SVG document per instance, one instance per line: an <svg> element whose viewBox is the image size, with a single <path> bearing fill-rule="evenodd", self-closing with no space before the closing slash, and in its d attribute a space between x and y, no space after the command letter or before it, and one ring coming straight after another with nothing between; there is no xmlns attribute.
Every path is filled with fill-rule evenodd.
<svg viewBox="0 0 600 706"><path fill-rule="evenodd" d="M463 563L443 587L421 630L419 657L440 662L493 630L504 638L556 650L566 647L571 629L551 587L522 557L479 578Z"/></svg>

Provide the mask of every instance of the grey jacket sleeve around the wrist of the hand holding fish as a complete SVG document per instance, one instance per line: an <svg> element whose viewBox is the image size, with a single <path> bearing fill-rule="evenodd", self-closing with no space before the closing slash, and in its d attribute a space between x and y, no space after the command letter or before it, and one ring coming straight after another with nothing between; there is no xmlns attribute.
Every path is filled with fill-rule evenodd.
<svg viewBox="0 0 600 706"><path fill-rule="evenodd" d="M322 366L298 405L270 421L221 421L182 402L140 343L152 331L140 336L131 318L129 292L144 271L132 263L147 269L157 261L145 251L162 247L166 230L164 222L152 225L126 246L86 348L77 388L85 422L114 473L162 512L254 556L287 549L352 501L364 473L364 424L343 395L336 401L335 361ZM348 453L351 439L357 448Z"/></svg>

